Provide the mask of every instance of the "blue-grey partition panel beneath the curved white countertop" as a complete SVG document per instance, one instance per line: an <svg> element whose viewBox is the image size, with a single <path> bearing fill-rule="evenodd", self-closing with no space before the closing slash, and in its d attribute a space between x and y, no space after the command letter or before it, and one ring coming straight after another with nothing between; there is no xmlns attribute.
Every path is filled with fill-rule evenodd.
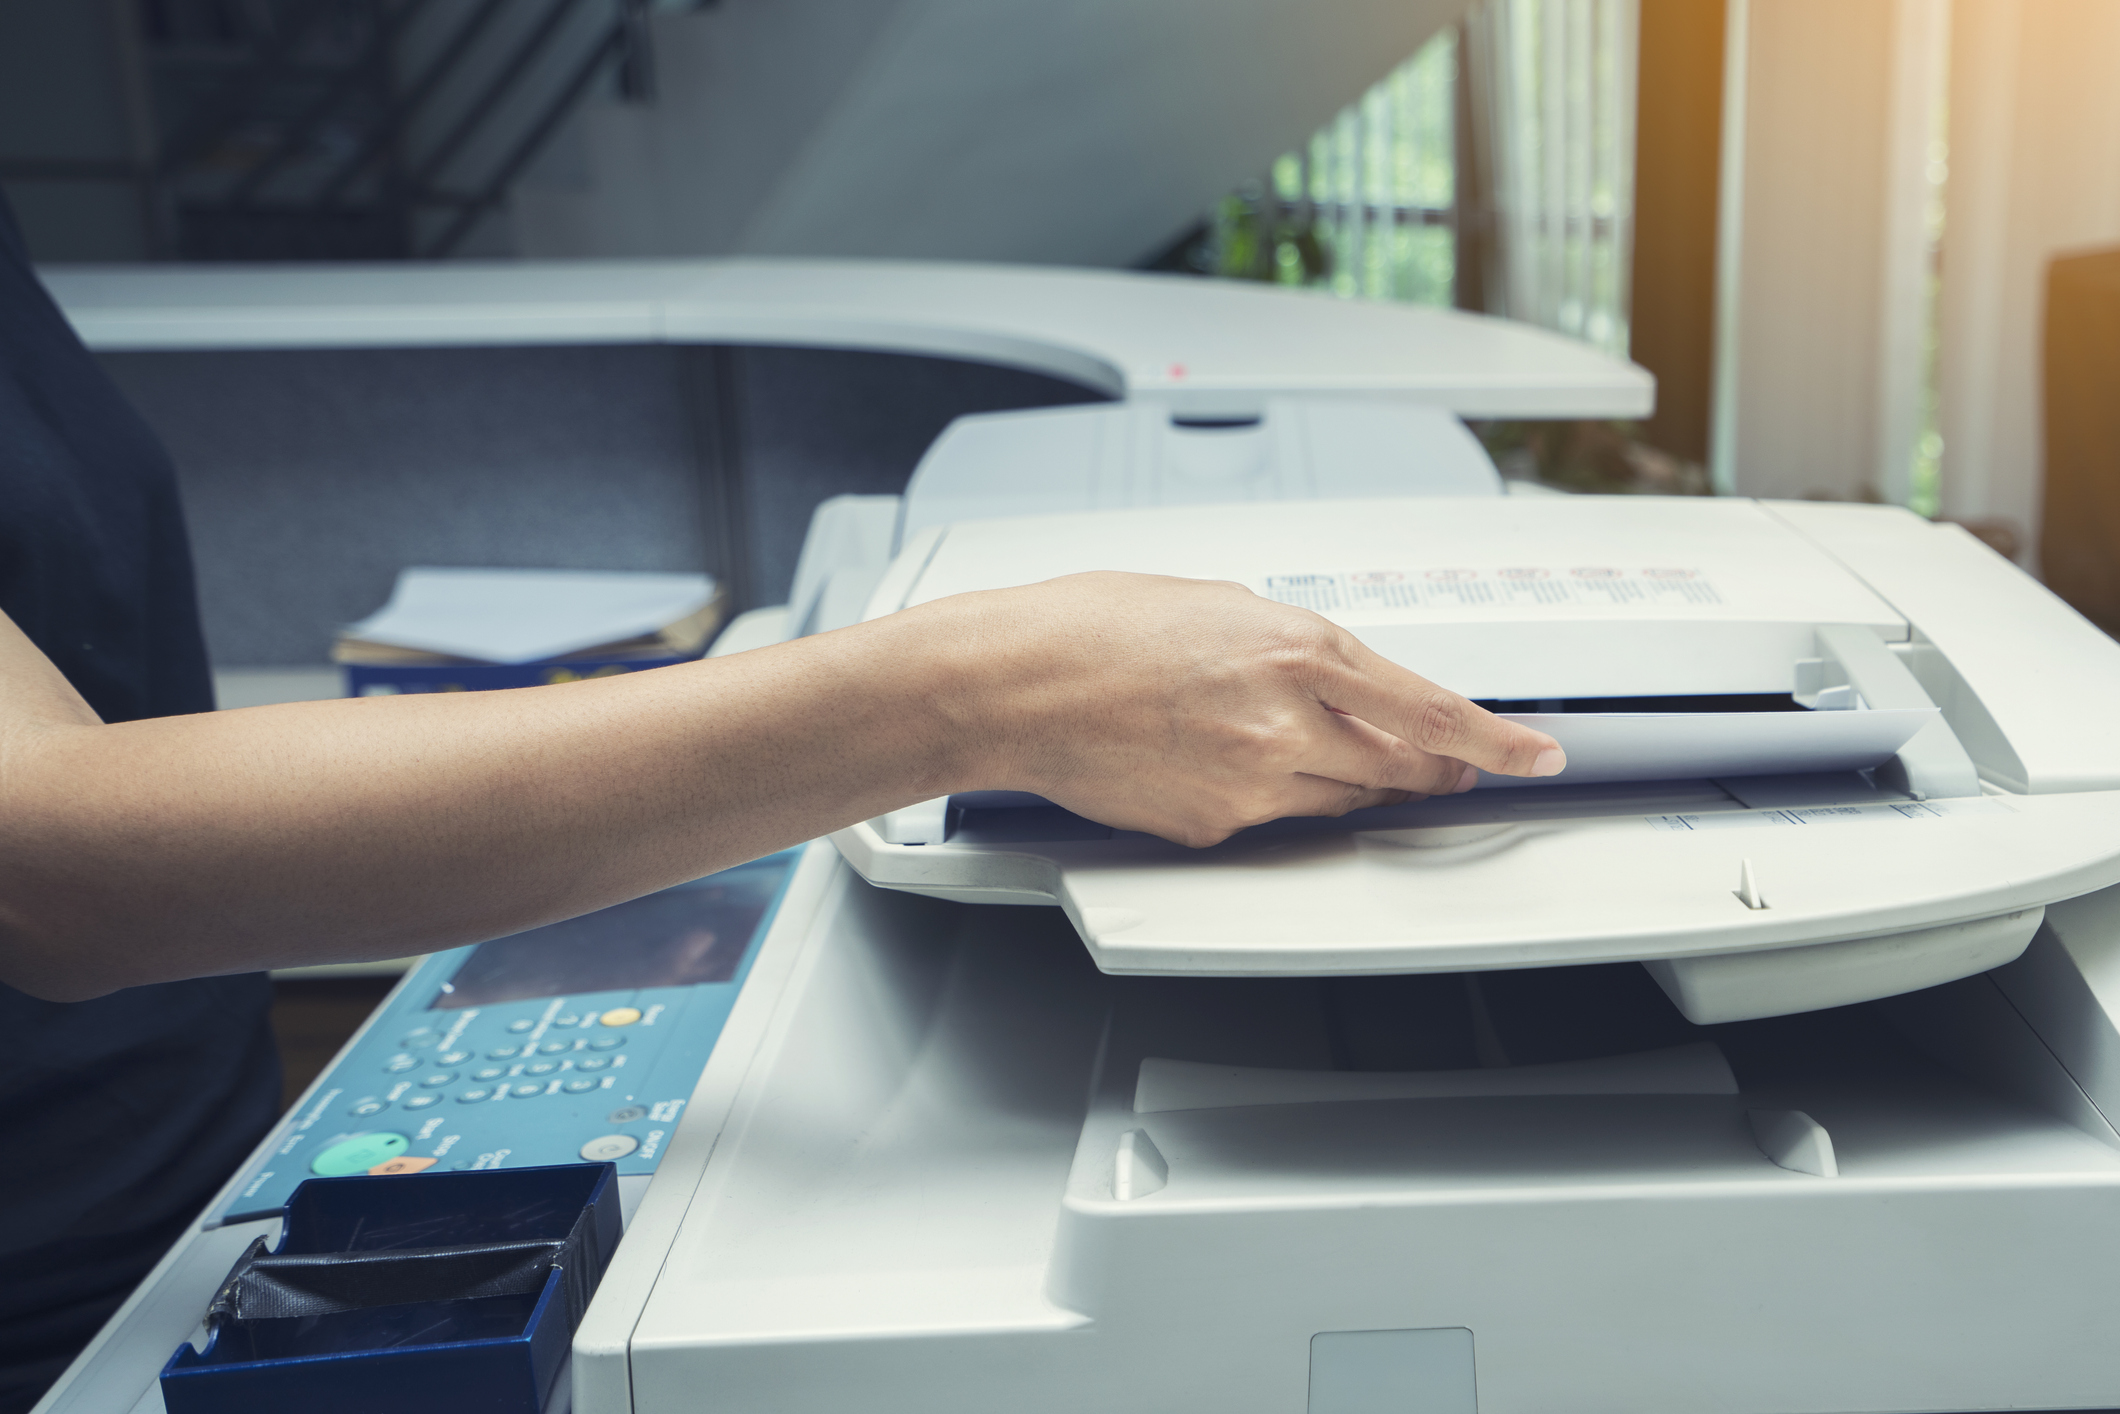
<svg viewBox="0 0 2120 1414"><path fill-rule="evenodd" d="M322 664L407 564L706 570L787 598L810 511L895 494L958 416L1096 403L837 348L106 352L176 460L220 668Z"/></svg>

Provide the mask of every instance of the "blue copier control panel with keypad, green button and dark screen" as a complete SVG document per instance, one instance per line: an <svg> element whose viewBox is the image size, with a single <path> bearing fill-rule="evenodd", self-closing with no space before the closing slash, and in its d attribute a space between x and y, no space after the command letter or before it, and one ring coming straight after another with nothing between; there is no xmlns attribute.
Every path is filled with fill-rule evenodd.
<svg viewBox="0 0 2120 1414"><path fill-rule="evenodd" d="M312 1177L583 1160L655 1172L799 854L432 954L216 1221L276 1215Z"/></svg>

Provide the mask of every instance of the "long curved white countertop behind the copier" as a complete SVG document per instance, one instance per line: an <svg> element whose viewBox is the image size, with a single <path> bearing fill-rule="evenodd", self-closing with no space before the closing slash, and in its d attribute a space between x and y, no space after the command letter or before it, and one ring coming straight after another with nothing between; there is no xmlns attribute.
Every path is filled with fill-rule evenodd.
<svg viewBox="0 0 2120 1414"><path fill-rule="evenodd" d="M1647 371L1456 310L1234 280L922 261L47 267L89 348L778 343L973 358L1198 411L1397 396L1639 418Z"/></svg>

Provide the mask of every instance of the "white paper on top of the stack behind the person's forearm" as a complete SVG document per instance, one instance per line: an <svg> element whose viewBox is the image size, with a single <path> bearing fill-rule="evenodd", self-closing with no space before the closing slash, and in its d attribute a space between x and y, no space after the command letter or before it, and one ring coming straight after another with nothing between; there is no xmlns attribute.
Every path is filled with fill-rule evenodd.
<svg viewBox="0 0 2120 1414"><path fill-rule="evenodd" d="M399 570L390 602L346 634L485 664L534 664L653 634L712 598L708 575L418 566Z"/></svg>

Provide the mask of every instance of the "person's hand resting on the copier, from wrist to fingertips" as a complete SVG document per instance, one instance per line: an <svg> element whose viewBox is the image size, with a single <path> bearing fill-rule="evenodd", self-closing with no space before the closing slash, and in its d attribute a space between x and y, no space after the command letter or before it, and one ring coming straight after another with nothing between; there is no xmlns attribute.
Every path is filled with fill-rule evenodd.
<svg viewBox="0 0 2120 1414"><path fill-rule="evenodd" d="M939 708L971 744L965 789L1179 844L1567 765L1550 736L1234 583L1071 575L907 617L962 651L969 691Z"/></svg>

